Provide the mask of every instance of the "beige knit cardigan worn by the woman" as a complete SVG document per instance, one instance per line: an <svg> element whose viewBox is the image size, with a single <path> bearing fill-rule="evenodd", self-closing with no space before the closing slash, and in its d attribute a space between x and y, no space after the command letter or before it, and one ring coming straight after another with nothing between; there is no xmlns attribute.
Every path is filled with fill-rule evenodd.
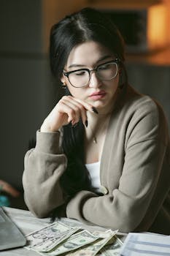
<svg viewBox="0 0 170 256"><path fill-rule="evenodd" d="M64 203L59 178L66 170L60 132L37 132L26 153L23 187L28 208L46 217ZM150 97L122 89L112 111L101 156L104 195L81 191L66 217L121 232L170 234L170 142L166 118Z"/></svg>

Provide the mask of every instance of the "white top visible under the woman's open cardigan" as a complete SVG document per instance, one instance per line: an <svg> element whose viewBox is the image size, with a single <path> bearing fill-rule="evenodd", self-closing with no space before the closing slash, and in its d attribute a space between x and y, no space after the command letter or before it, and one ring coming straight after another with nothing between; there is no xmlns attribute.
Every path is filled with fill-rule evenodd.
<svg viewBox="0 0 170 256"><path fill-rule="evenodd" d="M101 187L100 163L101 162L93 162L92 164L85 165L90 175L91 184L96 189L99 189L99 187Z"/></svg>

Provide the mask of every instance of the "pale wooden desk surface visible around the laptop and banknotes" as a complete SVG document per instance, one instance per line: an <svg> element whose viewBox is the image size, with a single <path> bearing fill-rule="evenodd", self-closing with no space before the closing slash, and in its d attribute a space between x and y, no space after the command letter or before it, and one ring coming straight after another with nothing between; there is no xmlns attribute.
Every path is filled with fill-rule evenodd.
<svg viewBox="0 0 170 256"><path fill-rule="evenodd" d="M31 214L30 211L20 210L16 208L8 208L4 207L4 211L7 215L12 219L13 222L20 228L24 235L31 233L35 230L39 230L42 227L47 226L50 224L50 218L45 219L38 219ZM63 218L65 219L65 218ZM61 218L62 221L62 218ZM72 219L73 223L80 223L77 220ZM80 226L86 230L94 231L94 230L106 230L104 227L98 226L90 226L84 225L80 223ZM125 237L125 233L118 233L120 238L123 239ZM29 251L25 248L18 248L18 249L9 249L7 251L1 251L0 256L38 256L39 254L34 251Z"/></svg>

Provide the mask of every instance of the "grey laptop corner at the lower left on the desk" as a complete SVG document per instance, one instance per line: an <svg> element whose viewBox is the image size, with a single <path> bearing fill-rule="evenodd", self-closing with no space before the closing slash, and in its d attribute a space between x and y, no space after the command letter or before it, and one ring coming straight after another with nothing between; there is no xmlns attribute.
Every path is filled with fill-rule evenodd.
<svg viewBox="0 0 170 256"><path fill-rule="evenodd" d="M0 250L26 245L26 238L0 207Z"/></svg>

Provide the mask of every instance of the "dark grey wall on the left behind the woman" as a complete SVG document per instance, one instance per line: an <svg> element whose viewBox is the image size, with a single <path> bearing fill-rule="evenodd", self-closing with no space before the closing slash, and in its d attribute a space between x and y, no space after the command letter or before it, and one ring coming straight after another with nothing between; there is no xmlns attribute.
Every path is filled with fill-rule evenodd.
<svg viewBox="0 0 170 256"><path fill-rule="evenodd" d="M42 1L0 1L0 179L21 188L23 157L50 109ZM51 87L50 87L51 86Z"/></svg>

